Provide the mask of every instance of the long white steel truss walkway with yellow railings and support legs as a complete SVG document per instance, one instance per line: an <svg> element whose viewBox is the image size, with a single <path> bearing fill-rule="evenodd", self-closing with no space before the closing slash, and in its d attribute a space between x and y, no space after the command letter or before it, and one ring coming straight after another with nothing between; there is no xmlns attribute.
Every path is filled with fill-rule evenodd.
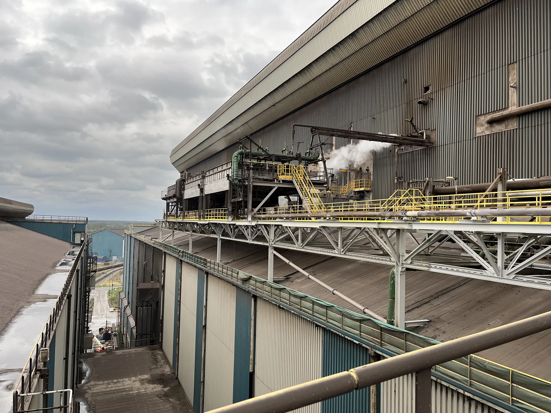
<svg viewBox="0 0 551 413"><path fill-rule="evenodd" d="M228 221L224 210L207 210L158 222L160 229L216 237L218 256L221 240L268 247L269 281L273 281L274 248L395 267L396 325L403 328L406 270L551 290L551 200L547 191L456 197L424 197L404 191L386 200L326 204L326 218L318 213L311 217L310 209L302 212L295 206L294 211L266 208L252 220ZM331 211L337 209L342 215L332 216ZM420 213L425 214L423 218L417 216ZM483 220L476 217L479 213ZM417 218L406 218L412 216L407 214Z"/></svg>

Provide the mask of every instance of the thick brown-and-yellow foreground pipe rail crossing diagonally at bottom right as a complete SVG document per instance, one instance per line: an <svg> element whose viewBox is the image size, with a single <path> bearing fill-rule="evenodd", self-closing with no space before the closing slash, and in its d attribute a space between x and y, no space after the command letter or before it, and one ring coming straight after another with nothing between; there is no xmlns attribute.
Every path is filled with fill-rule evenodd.
<svg viewBox="0 0 551 413"><path fill-rule="evenodd" d="M210 413L284 413L488 350L549 328L551 312L277 390L210 410Z"/></svg>

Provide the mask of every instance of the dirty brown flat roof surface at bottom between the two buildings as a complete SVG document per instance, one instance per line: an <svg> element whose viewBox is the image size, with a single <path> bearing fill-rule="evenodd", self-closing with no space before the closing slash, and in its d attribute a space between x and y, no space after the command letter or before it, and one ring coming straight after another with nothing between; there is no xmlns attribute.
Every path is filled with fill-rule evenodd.
<svg viewBox="0 0 551 413"><path fill-rule="evenodd" d="M158 346L93 353L82 360L89 371L75 395L81 413L193 413Z"/></svg>

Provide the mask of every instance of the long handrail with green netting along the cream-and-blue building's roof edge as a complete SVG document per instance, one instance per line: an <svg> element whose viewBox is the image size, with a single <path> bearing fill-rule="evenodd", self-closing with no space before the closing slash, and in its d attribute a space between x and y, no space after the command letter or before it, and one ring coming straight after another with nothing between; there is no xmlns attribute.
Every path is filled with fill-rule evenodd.
<svg viewBox="0 0 551 413"><path fill-rule="evenodd" d="M126 233L269 301L276 302L315 323L373 347L382 355L392 357L440 343L149 237L128 231ZM549 410L551 382L498 363L490 363L491 365L482 357L469 355L434 366L433 372L450 379L454 384L460 383L468 389L487 395L491 400L490 403L503 409L535 413L551 411Z"/></svg>

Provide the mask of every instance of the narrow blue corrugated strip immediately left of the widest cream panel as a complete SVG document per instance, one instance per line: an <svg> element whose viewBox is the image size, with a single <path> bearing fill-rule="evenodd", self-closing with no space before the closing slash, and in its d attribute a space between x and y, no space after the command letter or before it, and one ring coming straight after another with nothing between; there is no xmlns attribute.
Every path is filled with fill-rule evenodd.
<svg viewBox="0 0 551 413"><path fill-rule="evenodd" d="M251 304L251 294L238 288L235 297L234 403L249 399Z"/></svg>

